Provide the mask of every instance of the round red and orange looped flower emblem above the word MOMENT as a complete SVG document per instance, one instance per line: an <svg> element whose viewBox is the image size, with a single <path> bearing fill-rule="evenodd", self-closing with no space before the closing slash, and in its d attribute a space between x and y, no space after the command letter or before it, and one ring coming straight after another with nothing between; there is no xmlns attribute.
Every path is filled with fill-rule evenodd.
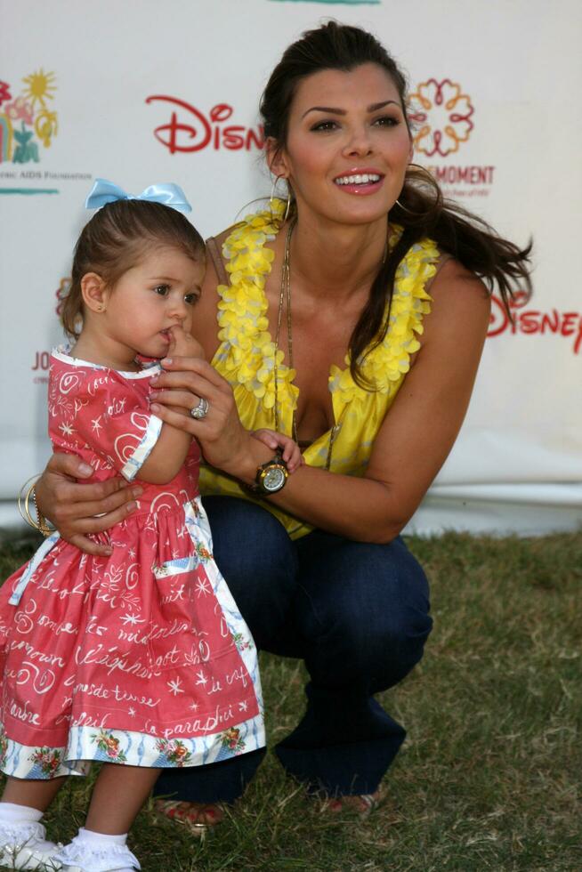
<svg viewBox="0 0 582 872"><path fill-rule="evenodd" d="M473 130L473 104L461 85L449 78L430 78L409 97L408 117L416 128L416 151L426 157L454 154Z"/></svg>

